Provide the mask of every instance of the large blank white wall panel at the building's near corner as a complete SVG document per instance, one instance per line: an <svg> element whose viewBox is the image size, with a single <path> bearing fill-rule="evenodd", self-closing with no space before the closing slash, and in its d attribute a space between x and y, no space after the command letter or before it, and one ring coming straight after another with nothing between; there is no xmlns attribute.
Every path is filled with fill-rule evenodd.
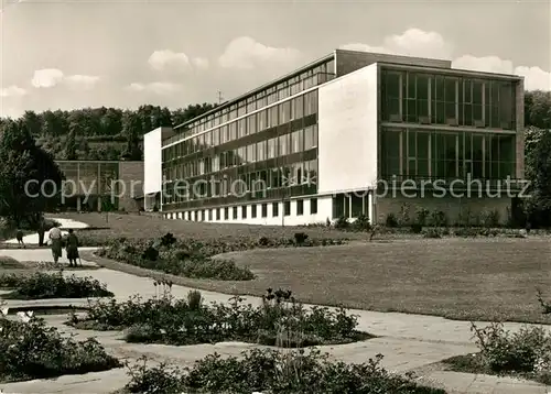
<svg viewBox="0 0 551 394"><path fill-rule="evenodd" d="M320 87L320 195L365 190L376 185L377 107L377 64Z"/></svg>

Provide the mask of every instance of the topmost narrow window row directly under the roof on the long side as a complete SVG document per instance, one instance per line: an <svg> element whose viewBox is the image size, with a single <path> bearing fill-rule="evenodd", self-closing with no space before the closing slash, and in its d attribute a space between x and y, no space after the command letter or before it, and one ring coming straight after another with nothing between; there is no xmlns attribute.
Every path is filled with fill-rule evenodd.
<svg viewBox="0 0 551 394"><path fill-rule="evenodd" d="M182 138L181 133L186 135L197 134L202 131L215 128L230 120L239 118L246 113L256 111L271 103L294 96L303 90L324 84L335 77L335 62L327 61L324 64L304 70L302 74L279 83L255 96L238 101L231 106L220 109L215 113L203 117L187 124L185 128L176 129L179 134L163 141L163 144L170 144Z"/></svg>

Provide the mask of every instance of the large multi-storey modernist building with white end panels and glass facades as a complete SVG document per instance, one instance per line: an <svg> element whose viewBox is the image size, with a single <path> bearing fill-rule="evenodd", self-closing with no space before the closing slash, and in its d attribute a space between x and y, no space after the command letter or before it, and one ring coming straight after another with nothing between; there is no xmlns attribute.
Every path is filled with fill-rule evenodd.
<svg viewBox="0 0 551 394"><path fill-rule="evenodd" d="M504 220L514 196L490 198L486 189L510 179L516 190L523 177L523 80L337 50L174 130L145 134L144 171L144 193L163 190L160 210L171 219L380 222L410 204L450 220L497 209ZM436 180L469 179L484 185L483 197L436 194Z"/></svg>

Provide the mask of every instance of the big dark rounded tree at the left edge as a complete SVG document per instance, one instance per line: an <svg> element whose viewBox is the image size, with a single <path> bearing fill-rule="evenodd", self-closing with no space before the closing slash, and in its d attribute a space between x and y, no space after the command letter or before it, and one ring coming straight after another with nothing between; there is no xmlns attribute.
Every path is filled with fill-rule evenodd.
<svg viewBox="0 0 551 394"><path fill-rule="evenodd" d="M54 158L36 145L20 120L8 121L0 130L0 216L37 228L61 190L63 175Z"/></svg>

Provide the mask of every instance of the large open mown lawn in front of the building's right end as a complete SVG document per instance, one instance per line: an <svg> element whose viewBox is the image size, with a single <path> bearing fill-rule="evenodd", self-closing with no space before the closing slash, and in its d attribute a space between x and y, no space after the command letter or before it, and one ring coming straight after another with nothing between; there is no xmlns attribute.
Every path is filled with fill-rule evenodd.
<svg viewBox="0 0 551 394"><path fill-rule="evenodd" d="M256 280L220 282L171 276L174 284L228 294L292 288L304 303L444 316L461 320L551 324L537 287L551 288L549 239L396 240L324 248L229 253ZM128 264L104 266L160 275ZM551 298L551 293L549 293ZM483 300L483 302L482 302Z"/></svg>

